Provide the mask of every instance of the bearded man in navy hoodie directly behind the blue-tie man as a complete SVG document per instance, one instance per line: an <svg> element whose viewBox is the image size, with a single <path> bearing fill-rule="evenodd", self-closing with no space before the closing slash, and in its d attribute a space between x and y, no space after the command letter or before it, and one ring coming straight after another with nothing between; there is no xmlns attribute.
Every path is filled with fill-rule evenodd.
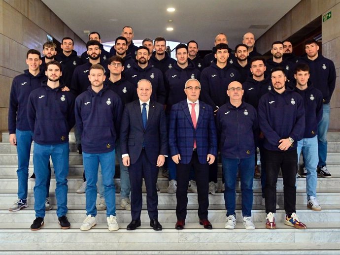
<svg viewBox="0 0 340 255"><path fill-rule="evenodd" d="M164 78L161 70L148 64L150 58L149 49L145 46L140 46L137 49L137 63L132 65L132 68L125 72L125 77L137 87L138 81L147 79L152 84L151 99L165 104L166 92L164 87Z"/></svg>

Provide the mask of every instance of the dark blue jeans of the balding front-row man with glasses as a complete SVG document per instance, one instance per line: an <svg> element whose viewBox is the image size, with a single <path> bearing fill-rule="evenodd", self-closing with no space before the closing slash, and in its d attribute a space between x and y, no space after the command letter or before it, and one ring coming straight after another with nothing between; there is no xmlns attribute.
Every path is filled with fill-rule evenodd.
<svg viewBox="0 0 340 255"><path fill-rule="evenodd" d="M245 159L228 159L222 156L223 175L225 179L224 201L227 217L235 215L236 208L236 179L239 169L242 192L242 216L250 217L253 206L253 180L255 171L255 155Z"/></svg>

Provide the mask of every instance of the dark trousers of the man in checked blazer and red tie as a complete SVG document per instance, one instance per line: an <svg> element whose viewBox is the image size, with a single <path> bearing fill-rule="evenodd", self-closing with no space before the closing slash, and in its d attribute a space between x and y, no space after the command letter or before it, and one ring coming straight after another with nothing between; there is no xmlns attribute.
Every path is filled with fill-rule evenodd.
<svg viewBox="0 0 340 255"><path fill-rule="evenodd" d="M201 164L197 152L193 152L191 161L189 164L177 164L177 206L176 216L177 220L185 220L187 216L188 205L188 182L190 176L190 170L194 168L195 179L197 185L198 195L198 216L200 219L208 219L208 207L209 207L209 165L207 163Z"/></svg>

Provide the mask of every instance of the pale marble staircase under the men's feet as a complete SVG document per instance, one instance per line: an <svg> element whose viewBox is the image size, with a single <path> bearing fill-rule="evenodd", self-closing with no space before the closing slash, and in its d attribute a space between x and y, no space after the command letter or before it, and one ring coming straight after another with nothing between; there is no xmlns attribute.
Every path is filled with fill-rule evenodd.
<svg viewBox="0 0 340 255"><path fill-rule="evenodd" d="M237 226L224 228L225 205L223 193L209 195L209 220L212 230L204 229L197 216L197 194L188 194L188 215L184 230L174 229L176 222L175 194L166 193L168 180L159 173L159 221L163 231L149 226L146 195L143 194L142 225L127 231L131 221L129 211L120 207L119 174L116 175L116 210L120 229L109 232L105 211L99 211L98 224L91 230L80 231L86 217L85 194L75 191L82 183L82 159L77 154L74 135L70 134L70 167L68 176L68 219L71 228L60 229L56 216L55 180L51 179L50 199L53 210L46 212L45 224L39 231L31 231L34 216L34 180L29 180L29 207L11 213L10 205L17 198L16 149L2 133L0 142L0 255L1 254L340 254L340 133L328 134L328 169L331 179L318 178L317 193L322 211L306 207L306 178L297 179L297 214L306 223L306 230L283 224L284 210L276 212L277 229L265 228L265 210L261 205L261 183L254 179L252 217L256 229L246 230L241 223L241 199L237 187ZM33 154L32 154L33 155ZM29 168L33 173L32 157ZM53 172L53 165L52 165ZM219 189L221 186L219 173ZM219 190L220 191L220 190ZM283 208L283 184L279 177L277 201Z"/></svg>

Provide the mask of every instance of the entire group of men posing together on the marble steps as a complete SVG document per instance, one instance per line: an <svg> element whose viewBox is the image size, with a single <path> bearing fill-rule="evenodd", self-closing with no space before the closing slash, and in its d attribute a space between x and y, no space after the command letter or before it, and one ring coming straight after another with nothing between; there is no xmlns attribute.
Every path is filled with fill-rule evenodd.
<svg viewBox="0 0 340 255"><path fill-rule="evenodd" d="M70 227L67 215L68 134L75 130L84 164L86 218L80 229L96 225L97 210L105 210L110 231L119 229L115 207L115 158L120 165L121 207L131 210L127 230L141 225L142 179L145 180L150 226L158 221L159 167L167 169L169 193L176 193L176 229L183 229L187 192L198 193L199 223L208 220L208 194L217 191L217 155L221 153L227 221L236 226L236 180L239 172L242 222L251 218L253 178L261 176L269 229L276 228L276 183L284 183L285 224L306 228L296 215L296 174L301 152L306 177L307 207L321 210L316 198L317 174L330 178L326 167L330 98L335 66L306 41L306 55L294 56L289 41L272 44L266 61L248 32L235 54L227 36L215 37L213 52L202 60L194 40L178 44L176 59L166 52L166 39L133 43L133 29L124 27L110 53L100 34L92 32L81 59L73 40L43 45L27 53L28 70L14 78L8 114L10 143L18 152L18 200L10 211L28 207L27 181L34 141L34 210L31 225L44 223L49 204L52 158L56 178L58 222ZM155 50L155 51L154 51ZM83 64L81 64L83 63ZM165 109L165 110L164 110ZM261 173L257 167L257 147ZM97 190L100 193L96 205ZM130 200L131 193L131 200Z"/></svg>

